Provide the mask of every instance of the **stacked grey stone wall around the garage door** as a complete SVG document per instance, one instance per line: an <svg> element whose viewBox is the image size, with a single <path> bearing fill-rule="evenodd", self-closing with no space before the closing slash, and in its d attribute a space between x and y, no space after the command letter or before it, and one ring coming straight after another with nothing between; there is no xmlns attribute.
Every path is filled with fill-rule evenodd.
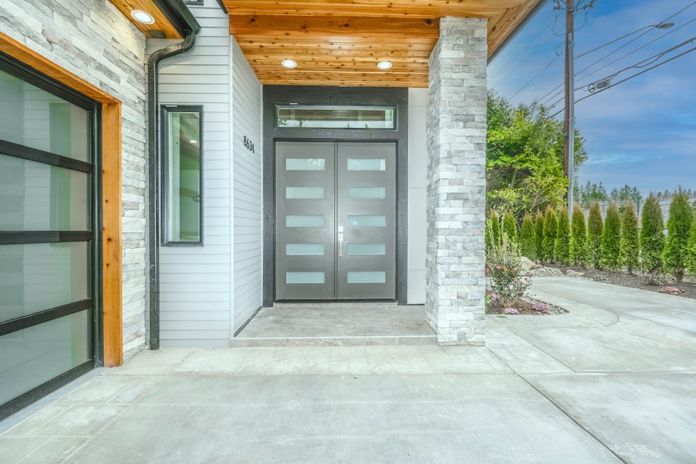
<svg viewBox="0 0 696 464"><path fill-rule="evenodd" d="M0 31L122 102L124 357L145 346L145 35L104 0L0 2Z"/></svg>

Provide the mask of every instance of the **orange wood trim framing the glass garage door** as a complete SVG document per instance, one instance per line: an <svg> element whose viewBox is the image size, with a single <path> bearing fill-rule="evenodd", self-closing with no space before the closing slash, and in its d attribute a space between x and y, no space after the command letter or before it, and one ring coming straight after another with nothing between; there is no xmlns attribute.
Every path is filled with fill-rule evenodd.
<svg viewBox="0 0 696 464"><path fill-rule="evenodd" d="M120 366L123 363L121 102L1 32L0 51L102 104L104 366Z"/></svg>

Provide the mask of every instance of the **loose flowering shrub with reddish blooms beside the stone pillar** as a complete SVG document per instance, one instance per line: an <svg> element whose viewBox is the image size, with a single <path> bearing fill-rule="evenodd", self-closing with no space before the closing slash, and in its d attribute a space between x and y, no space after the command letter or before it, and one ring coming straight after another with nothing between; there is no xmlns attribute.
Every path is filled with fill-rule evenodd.
<svg viewBox="0 0 696 464"><path fill-rule="evenodd" d="M501 237L500 245L493 245L486 253L486 273L491 278L491 289L503 299L512 302L532 285L532 277L522 271L522 255L517 243Z"/></svg>

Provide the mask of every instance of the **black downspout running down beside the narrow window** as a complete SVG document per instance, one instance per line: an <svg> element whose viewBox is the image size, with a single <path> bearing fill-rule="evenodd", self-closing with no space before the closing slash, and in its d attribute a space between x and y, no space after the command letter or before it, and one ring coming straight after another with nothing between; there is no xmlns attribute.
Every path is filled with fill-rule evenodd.
<svg viewBox="0 0 696 464"><path fill-rule="evenodd" d="M196 43L196 32L188 29L183 42L159 49L148 58L148 243L150 246L150 349L159 349L159 157L157 66L164 58L189 51Z"/></svg>

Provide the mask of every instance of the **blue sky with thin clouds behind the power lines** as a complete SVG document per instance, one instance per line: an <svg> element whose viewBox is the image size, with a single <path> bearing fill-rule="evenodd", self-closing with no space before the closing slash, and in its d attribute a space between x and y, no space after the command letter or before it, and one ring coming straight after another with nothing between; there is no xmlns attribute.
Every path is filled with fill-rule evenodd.
<svg viewBox="0 0 696 464"><path fill-rule="evenodd" d="M551 106L563 97L565 18L553 10L553 3L548 0L489 64L489 88L513 104L537 100ZM696 47L695 40L661 58L651 58L696 37L693 0L597 0L594 8L585 11L587 22L585 12L576 16L576 89L631 67L612 79L617 83ZM646 27L666 21L675 24L665 30ZM642 67L633 67L643 61ZM590 95L586 89L576 90L576 101ZM562 119L563 108L561 100L551 113L561 111L557 118ZM580 183L601 181L608 191L629 184L644 194L679 185L696 188L696 51L576 103L576 128L586 138L589 154L579 171Z"/></svg>

